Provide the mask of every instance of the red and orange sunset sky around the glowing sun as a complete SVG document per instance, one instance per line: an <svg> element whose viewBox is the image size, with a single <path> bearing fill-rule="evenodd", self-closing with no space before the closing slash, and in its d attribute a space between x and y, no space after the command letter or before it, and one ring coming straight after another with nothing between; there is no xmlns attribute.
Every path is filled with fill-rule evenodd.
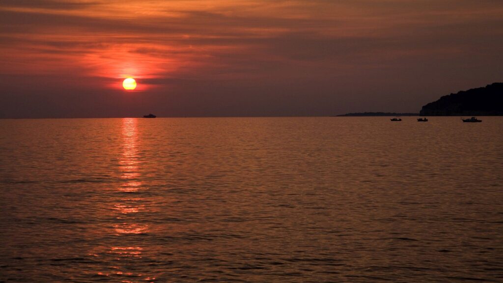
<svg viewBox="0 0 503 283"><path fill-rule="evenodd" d="M500 0L2 0L0 117L418 112L503 81L502 15Z"/></svg>

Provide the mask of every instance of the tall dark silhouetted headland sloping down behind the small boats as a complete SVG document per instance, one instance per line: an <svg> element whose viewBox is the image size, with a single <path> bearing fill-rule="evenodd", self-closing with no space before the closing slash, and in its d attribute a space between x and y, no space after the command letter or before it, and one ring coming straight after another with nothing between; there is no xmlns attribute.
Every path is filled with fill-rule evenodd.
<svg viewBox="0 0 503 283"><path fill-rule="evenodd" d="M421 116L501 116L503 83L442 96L423 106Z"/></svg>

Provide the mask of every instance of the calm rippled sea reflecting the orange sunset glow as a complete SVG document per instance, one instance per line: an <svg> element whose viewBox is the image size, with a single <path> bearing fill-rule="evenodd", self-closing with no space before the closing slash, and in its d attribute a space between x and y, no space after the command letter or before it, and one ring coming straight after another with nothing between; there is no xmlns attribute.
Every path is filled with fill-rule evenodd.
<svg viewBox="0 0 503 283"><path fill-rule="evenodd" d="M0 120L0 281L503 281L503 117Z"/></svg>

